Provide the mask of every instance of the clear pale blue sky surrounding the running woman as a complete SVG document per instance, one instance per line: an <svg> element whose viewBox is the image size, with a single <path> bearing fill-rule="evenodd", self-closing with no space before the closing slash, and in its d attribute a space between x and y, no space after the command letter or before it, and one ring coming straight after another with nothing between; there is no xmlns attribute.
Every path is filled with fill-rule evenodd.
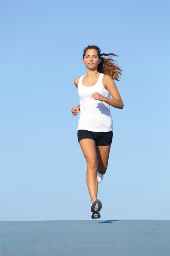
<svg viewBox="0 0 170 256"><path fill-rule="evenodd" d="M77 140L83 48L119 56L124 108L99 184L102 219L169 219L169 1L1 3L1 221L91 219Z"/></svg>

